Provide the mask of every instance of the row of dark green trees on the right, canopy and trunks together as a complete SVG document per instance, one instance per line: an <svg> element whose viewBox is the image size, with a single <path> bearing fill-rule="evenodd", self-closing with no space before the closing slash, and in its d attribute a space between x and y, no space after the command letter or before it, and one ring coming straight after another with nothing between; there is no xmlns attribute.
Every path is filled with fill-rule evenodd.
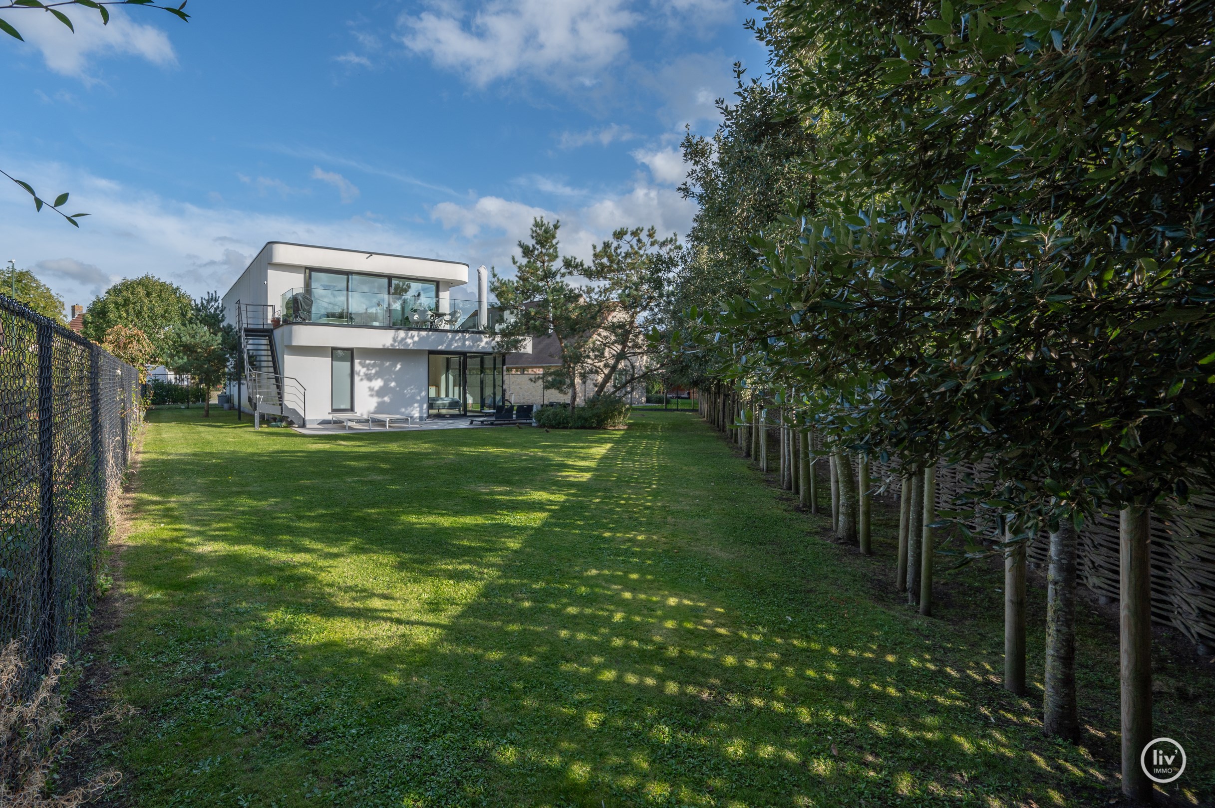
<svg viewBox="0 0 1215 808"><path fill-rule="evenodd" d="M865 478L893 465L895 585L923 614L946 527L1001 554L1017 693L1045 541L1044 727L1064 738L1078 535L1119 512L1123 789L1148 801L1149 513L1215 474L1215 11L763 10L773 82L740 74L718 135L684 142L700 212L672 331L702 406L798 494L829 463L836 531L865 550ZM942 467L976 473L937 508Z"/></svg>

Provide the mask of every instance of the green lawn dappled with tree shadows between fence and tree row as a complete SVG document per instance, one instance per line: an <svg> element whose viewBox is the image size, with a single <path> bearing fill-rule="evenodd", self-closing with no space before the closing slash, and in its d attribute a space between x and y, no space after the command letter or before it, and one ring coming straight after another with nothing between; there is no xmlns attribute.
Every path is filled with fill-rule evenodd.
<svg viewBox="0 0 1215 808"><path fill-rule="evenodd" d="M126 772L118 804L1118 793L1106 622L1081 648L1095 758L999 687L989 570L943 575L944 619L914 615L888 592L888 511L877 558L826 542L690 414L321 438L149 420L102 638L140 710L94 757ZM1209 701L1162 704L1180 785L1209 795Z"/></svg>

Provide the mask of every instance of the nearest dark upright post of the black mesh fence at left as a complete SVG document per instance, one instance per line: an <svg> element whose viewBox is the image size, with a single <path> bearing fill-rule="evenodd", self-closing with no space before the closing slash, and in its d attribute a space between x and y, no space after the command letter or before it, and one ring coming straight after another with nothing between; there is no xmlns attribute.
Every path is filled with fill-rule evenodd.
<svg viewBox="0 0 1215 808"><path fill-rule="evenodd" d="M38 558L41 569L39 607L43 632L41 659L56 650L58 614L55 608L55 429L53 343L50 320L39 319L38 335Z"/></svg>

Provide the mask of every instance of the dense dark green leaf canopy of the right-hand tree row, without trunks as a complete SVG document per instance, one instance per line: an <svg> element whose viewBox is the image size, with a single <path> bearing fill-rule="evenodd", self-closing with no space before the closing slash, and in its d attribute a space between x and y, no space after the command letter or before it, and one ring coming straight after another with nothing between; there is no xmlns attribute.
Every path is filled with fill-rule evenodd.
<svg viewBox="0 0 1215 808"><path fill-rule="evenodd" d="M768 10L814 197L707 349L855 450L998 456L1033 519L1210 472L1211 6Z"/></svg>

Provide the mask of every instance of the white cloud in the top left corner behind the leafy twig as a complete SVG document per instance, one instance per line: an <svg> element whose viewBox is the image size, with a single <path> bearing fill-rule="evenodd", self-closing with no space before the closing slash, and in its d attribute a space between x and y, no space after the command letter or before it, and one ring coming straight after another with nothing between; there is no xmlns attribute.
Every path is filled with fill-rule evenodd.
<svg viewBox="0 0 1215 808"><path fill-rule="evenodd" d="M51 15L33 8L6 16L26 41L41 51L49 69L85 84L98 80L92 64L98 57L135 56L158 67L177 63L169 36L163 30L132 22L118 8L109 13L109 24L103 25L92 10L75 7L70 15L75 33Z"/></svg>

